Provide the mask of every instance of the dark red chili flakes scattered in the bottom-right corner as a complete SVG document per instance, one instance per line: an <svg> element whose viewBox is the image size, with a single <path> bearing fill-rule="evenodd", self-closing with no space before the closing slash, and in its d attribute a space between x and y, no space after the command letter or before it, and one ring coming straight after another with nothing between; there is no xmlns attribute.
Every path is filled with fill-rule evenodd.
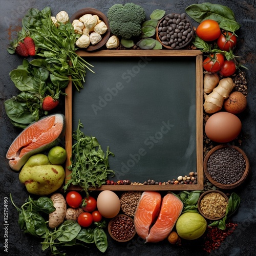
<svg viewBox="0 0 256 256"><path fill-rule="evenodd" d="M226 224L225 230L207 226L203 250L210 253L212 250L219 248L221 243L237 228L237 226L238 224L231 222Z"/></svg>

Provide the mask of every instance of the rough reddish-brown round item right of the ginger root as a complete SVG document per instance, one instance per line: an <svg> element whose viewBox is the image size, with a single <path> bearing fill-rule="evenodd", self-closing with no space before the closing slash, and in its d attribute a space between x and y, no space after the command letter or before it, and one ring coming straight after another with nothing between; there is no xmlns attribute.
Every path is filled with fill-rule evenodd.
<svg viewBox="0 0 256 256"><path fill-rule="evenodd" d="M239 114L246 109L247 100L241 92L233 92L223 103L224 109L232 114Z"/></svg>

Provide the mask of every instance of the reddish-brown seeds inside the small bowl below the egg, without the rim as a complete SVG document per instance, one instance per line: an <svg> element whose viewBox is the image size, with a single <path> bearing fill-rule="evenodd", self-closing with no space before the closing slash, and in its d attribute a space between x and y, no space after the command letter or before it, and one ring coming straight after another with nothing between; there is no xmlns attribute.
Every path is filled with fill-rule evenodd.
<svg viewBox="0 0 256 256"><path fill-rule="evenodd" d="M132 220L126 216L117 216L110 225L113 237L118 240L127 240L131 238L135 232Z"/></svg>

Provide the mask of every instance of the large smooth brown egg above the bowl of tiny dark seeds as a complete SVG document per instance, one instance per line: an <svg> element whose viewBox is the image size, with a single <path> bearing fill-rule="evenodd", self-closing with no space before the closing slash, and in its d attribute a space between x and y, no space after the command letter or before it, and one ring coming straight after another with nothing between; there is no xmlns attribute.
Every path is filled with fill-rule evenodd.
<svg viewBox="0 0 256 256"><path fill-rule="evenodd" d="M228 112L211 115L205 124L206 136L215 142L226 143L236 139L242 130L240 119Z"/></svg>

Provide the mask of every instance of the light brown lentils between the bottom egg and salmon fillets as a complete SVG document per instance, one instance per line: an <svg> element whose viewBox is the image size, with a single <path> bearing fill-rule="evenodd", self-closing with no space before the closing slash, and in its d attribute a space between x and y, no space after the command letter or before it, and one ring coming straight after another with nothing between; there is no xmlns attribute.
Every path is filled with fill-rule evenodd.
<svg viewBox="0 0 256 256"><path fill-rule="evenodd" d="M121 209L124 214L133 217L140 200L142 192L130 191L125 192L120 197Z"/></svg>

